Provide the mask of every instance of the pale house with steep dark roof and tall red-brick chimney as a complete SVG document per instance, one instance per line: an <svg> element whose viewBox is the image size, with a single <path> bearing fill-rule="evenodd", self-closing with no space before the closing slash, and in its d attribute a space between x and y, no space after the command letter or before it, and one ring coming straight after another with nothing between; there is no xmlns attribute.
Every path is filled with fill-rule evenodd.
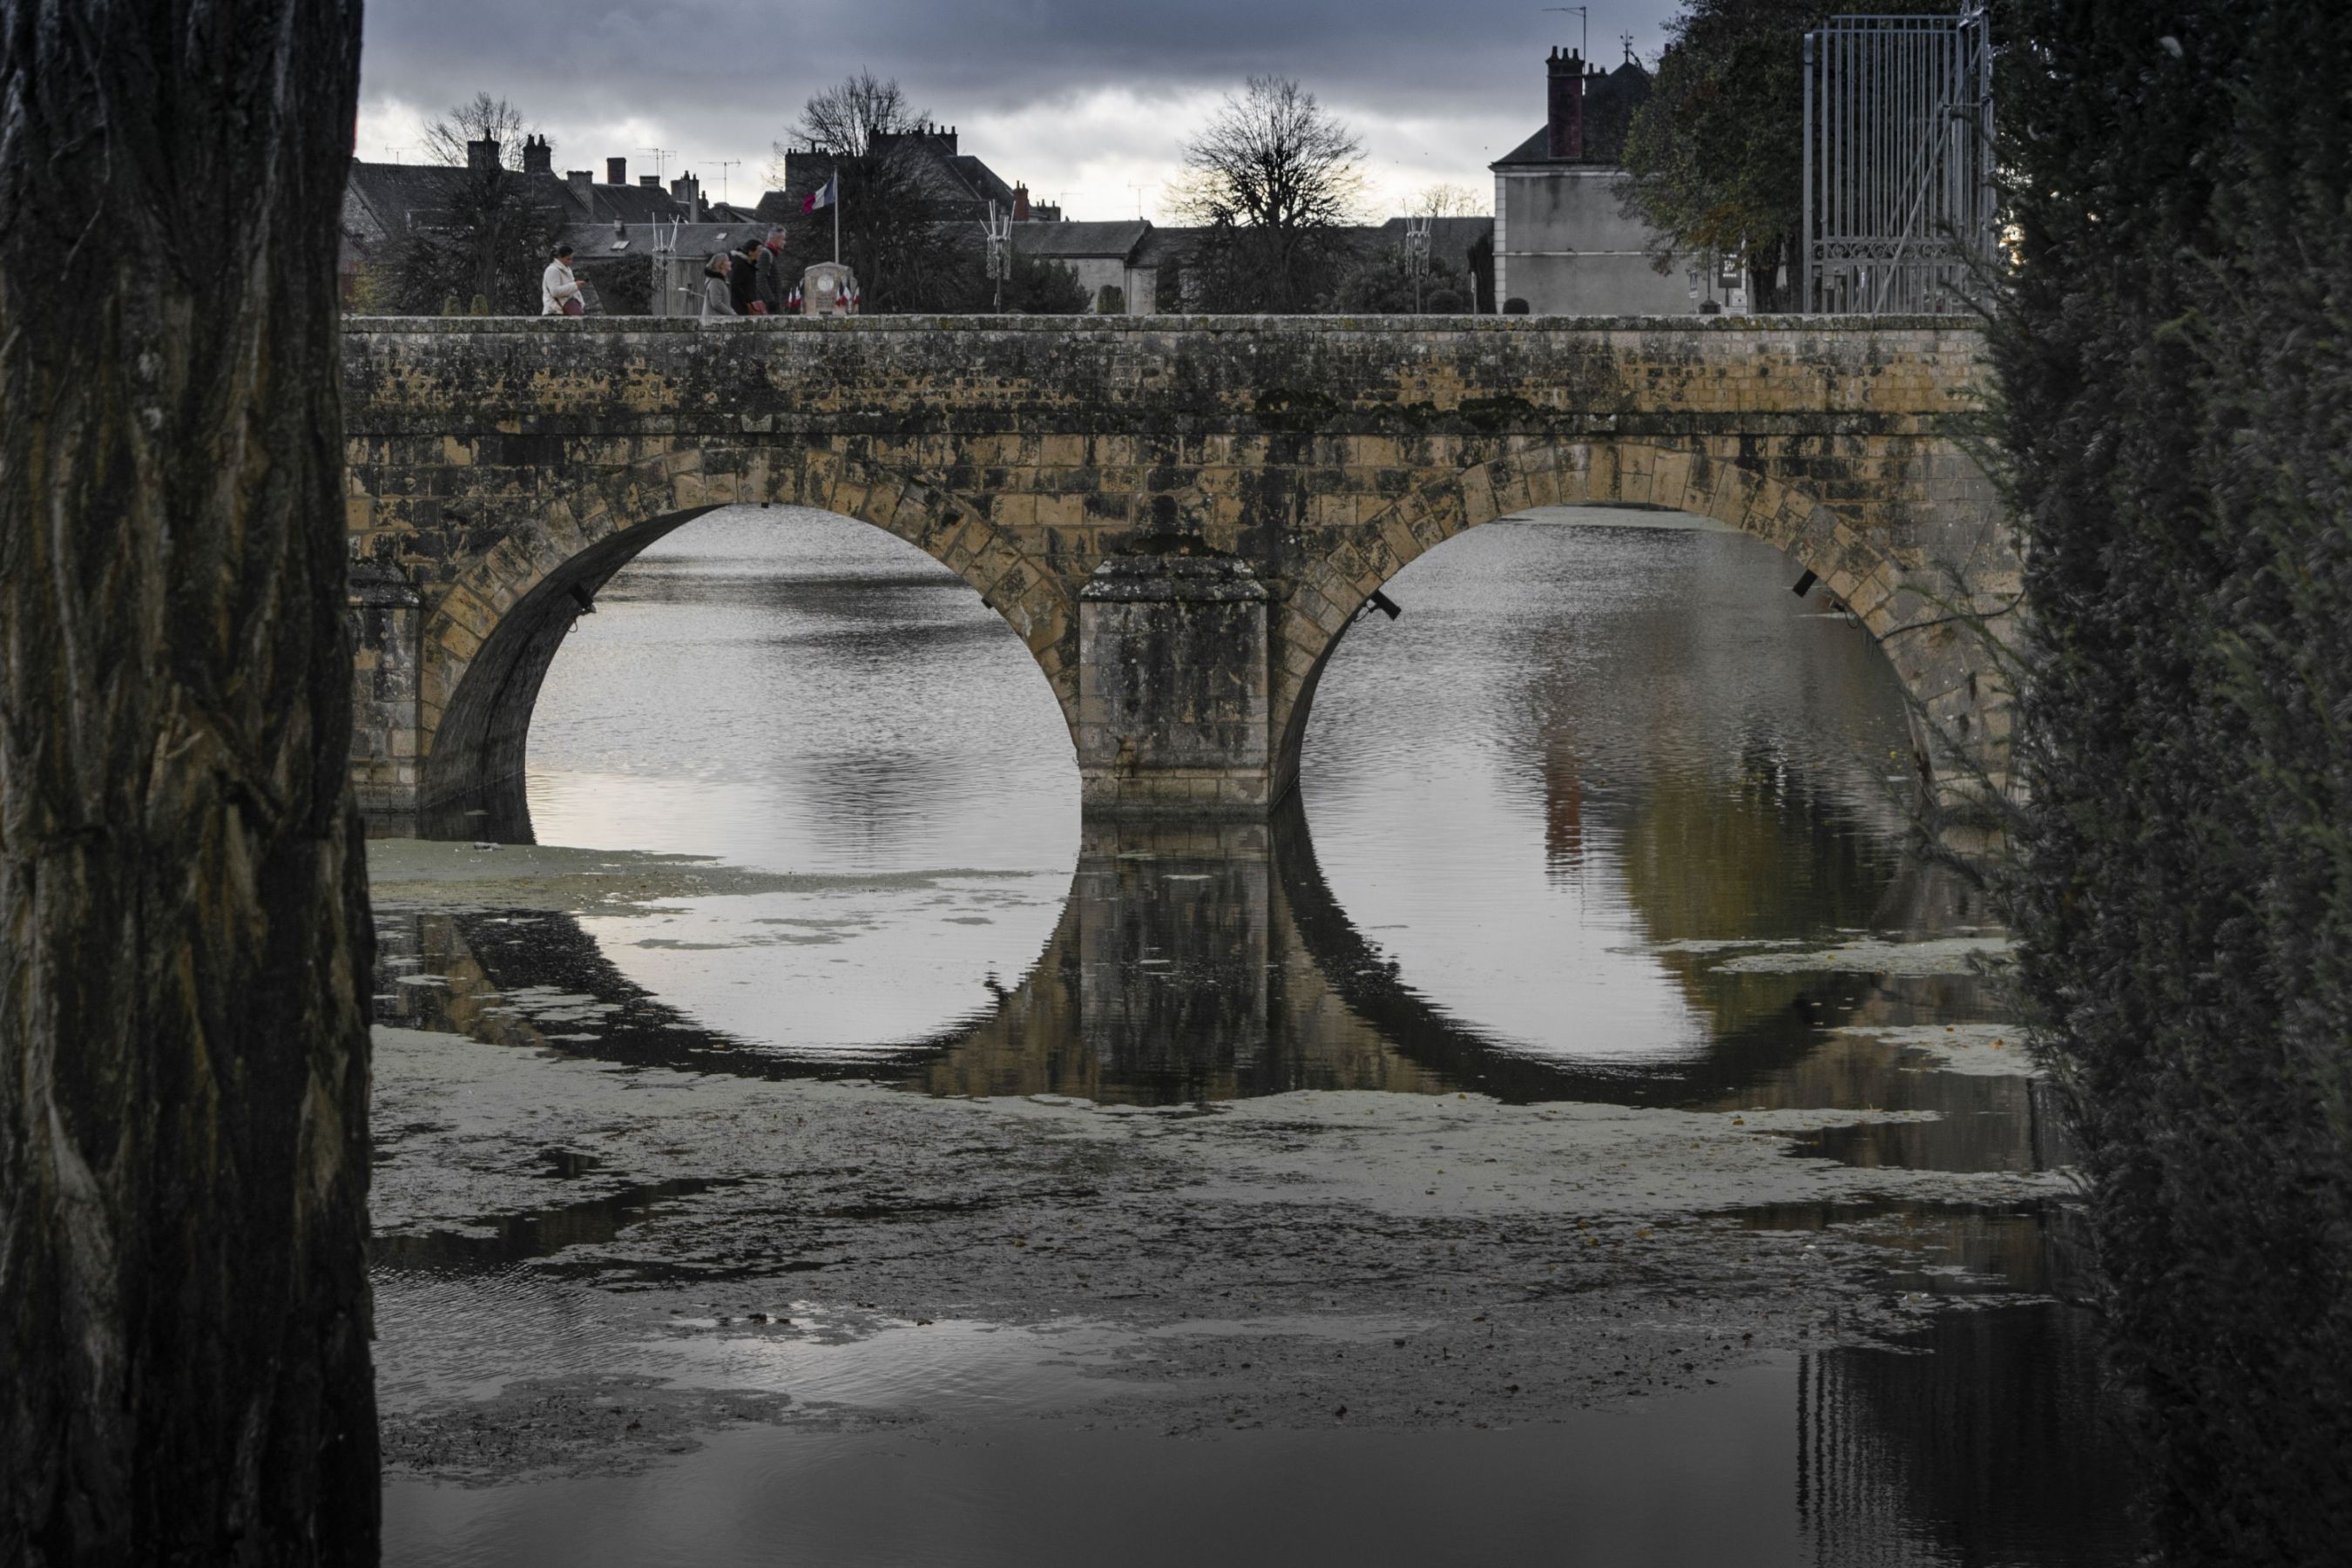
<svg viewBox="0 0 2352 1568"><path fill-rule="evenodd" d="M1649 73L1625 52L1597 71L1573 49L1545 61L1545 122L1494 165L1494 296L1531 315L1689 315L1689 263L1661 275L1658 235L1623 212L1625 125L1649 96ZM1708 280L1700 280L1708 282Z"/></svg>

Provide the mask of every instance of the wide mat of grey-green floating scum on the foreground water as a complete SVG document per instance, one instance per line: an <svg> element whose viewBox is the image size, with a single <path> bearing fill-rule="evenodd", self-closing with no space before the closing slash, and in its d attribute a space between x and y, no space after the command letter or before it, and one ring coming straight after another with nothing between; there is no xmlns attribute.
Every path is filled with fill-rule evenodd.
<svg viewBox="0 0 2352 1568"><path fill-rule="evenodd" d="M1999 1267L1950 1215L2044 1229L2067 1192L1795 1154L1915 1112L1122 1110L416 1030L376 1046L388 1453L461 1481L628 1467L649 1427L734 1420L1548 1420L1900 1335ZM828 1371L828 1396L797 1387L858 1342L891 1349ZM701 1394L630 1429L619 1413L644 1422L647 1396L616 1375Z"/></svg>

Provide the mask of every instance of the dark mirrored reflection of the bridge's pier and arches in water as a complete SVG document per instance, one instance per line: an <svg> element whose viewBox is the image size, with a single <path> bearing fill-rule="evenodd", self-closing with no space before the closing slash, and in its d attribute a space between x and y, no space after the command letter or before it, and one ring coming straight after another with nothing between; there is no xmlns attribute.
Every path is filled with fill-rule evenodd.
<svg viewBox="0 0 2352 1568"><path fill-rule="evenodd" d="M1472 1086L1522 1103L1689 1105L1790 1067L1835 1020L1799 997L1672 1074L1515 1051L1430 1004L1357 931L1296 799L1268 823L1096 820L1084 832L1063 914L1023 980L922 1039L790 1058L734 1041L630 980L579 919L548 912L419 914L419 957L449 987L437 1001L395 990L437 1009L435 1027L635 1065L1145 1103ZM550 1041L496 1009L499 992L527 985L597 999L609 1011L595 1039Z"/></svg>

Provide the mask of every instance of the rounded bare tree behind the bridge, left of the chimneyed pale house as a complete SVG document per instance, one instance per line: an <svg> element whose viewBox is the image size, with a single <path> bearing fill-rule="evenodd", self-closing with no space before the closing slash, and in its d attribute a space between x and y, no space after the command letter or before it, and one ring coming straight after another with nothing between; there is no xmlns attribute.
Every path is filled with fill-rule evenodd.
<svg viewBox="0 0 2352 1568"><path fill-rule="evenodd" d="M1315 310L1352 259L1364 143L1291 78L1254 75L1185 143L1174 207L1209 233L1185 292L1211 310Z"/></svg>

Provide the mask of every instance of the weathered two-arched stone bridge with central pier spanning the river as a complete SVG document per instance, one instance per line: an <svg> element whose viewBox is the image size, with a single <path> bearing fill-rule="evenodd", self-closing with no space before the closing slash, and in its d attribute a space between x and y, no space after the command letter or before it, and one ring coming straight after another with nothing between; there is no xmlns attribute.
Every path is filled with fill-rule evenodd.
<svg viewBox="0 0 2352 1568"><path fill-rule="evenodd" d="M517 792L597 588L720 505L866 520L1011 623L1089 809L1263 816L1324 661L1454 534L1555 503L1715 517L1818 574L1999 783L1959 611L2018 564L1957 433L1952 317L353 320L353 776L383 825Z"/></svg>

